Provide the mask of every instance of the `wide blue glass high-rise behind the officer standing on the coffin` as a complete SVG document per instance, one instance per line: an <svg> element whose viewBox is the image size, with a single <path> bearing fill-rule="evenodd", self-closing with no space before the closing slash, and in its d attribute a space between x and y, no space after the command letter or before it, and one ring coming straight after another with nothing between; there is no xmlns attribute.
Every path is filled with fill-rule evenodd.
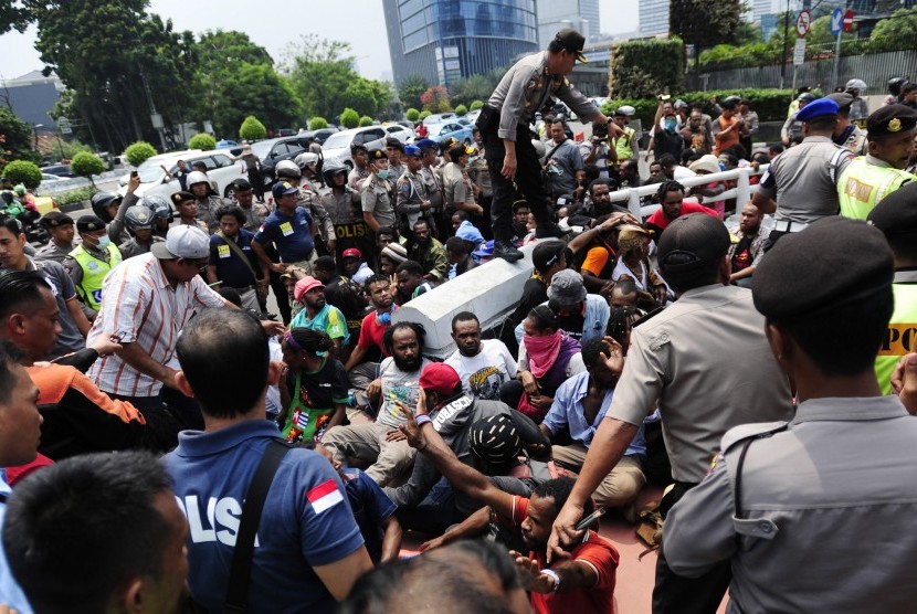
<svg viewBox="0 0 917 614"><path fill-rule="evenodd" d="M383 0L396 84L449 85L538 50L535 0Z"/></svg>

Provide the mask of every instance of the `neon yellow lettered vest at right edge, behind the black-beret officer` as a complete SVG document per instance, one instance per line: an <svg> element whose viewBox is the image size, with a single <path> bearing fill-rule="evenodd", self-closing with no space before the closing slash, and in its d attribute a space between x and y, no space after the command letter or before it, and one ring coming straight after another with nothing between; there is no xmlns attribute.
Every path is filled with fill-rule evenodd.
<svg viewBox="0 0 917 614"><path fill-rule="evenodd" d="M917 271L898 271L892 285L895 310L876 357L876 378L883 394L892 393L892 371L908 352L917 352Z"/></svg>

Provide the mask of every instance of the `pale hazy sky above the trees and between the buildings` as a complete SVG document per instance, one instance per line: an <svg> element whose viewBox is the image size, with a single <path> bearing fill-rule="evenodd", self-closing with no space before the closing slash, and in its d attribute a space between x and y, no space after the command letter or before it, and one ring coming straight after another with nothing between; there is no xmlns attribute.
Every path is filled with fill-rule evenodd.
<svg viewBox="0 0 917 614"><path fill-rule="evenodd" d="M622 33L637 28L637 0L599 0L602 32ZM304 34L347 41L360 74L391 78L382 0L151 0L149 12L171 19L176 31L239 30L264 46L275 62ZM34 50L35 29L0 36L0 80L14 78L43 64Z"/></svg>

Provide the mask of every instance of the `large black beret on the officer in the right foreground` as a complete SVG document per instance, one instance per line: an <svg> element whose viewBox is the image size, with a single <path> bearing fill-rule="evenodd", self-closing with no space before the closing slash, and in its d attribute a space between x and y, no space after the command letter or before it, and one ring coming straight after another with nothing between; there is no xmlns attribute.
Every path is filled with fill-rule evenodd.
<svg viewBox="0 0 917 614"><path fill-rule="evenodd" d="M874 296L894 275L885 236L839 215L782 236L755 269L751 292L768 319L811 318Z"/></svg>

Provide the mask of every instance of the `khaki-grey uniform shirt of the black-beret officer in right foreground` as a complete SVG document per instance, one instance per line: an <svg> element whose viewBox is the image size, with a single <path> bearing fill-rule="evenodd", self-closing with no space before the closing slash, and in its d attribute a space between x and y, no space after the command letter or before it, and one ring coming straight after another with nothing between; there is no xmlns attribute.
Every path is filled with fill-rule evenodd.
<svg viewBox="0 0 917 614"><path fill-rule="evenodd" d="M915 610L917 420L898 399L809 400L719 447L666 519L676 573L730 560L729 613Z"/></svg>

